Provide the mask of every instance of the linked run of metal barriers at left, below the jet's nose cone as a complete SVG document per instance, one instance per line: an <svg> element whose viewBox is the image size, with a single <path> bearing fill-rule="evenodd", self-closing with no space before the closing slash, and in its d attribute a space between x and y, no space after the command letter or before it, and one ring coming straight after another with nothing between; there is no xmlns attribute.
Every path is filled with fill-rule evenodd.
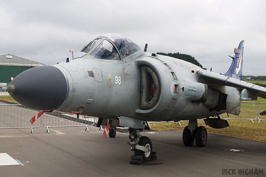
<svg viewBox="0 0 266 177"><path fill-rule="evenodd" d="M95 118L85 118L80 116L77 119L74 115L62 112L44 113L33 124L30 119L38 114L40 110L34 110L22 105L0 105L0 129L8 128L38 128L43 124L49 133L49 127L76 127L85 126L89 131L88 126L93 126ZM96 119L97 122L97 119Z"/></svg>

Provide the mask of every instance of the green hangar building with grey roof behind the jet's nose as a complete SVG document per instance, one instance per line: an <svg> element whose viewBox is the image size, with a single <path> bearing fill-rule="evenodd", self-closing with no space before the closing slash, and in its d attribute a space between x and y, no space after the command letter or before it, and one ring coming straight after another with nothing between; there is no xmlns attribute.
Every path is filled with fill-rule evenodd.
<svg viewBox="0 0 266 177"><path fill-rule="evenodd" d="M9 83L21 72L41 66L41 63L11 54L0 54L0 83Z"/></svg>

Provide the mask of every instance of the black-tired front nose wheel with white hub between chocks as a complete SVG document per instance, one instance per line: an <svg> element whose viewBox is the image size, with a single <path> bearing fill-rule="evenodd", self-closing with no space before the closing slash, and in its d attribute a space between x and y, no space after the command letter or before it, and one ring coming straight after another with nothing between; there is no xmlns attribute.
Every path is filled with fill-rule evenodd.
<svg viewBox="0 0 266 177"><path fill-rule="evenodd" d="M152 143L151 140L147 136L141 136L139 138L139 145L147 147L150 151L149 152L143 152L141 150L135 150L135 156L142 156L143 160L149 161L151 160L152 155Z"/></svg>

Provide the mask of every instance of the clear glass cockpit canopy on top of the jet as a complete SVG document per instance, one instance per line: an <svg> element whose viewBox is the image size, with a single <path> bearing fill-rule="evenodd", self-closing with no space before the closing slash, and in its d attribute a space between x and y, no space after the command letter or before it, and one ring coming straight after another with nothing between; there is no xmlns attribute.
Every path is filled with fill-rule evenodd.
<svg viewBox="0 0 266 177"><path fill-rule="evenodd" d="M121 60L122 57L123 60L140 51L140 48L125 36L109 33L97 37L81 51L98 59Z"/></svg>

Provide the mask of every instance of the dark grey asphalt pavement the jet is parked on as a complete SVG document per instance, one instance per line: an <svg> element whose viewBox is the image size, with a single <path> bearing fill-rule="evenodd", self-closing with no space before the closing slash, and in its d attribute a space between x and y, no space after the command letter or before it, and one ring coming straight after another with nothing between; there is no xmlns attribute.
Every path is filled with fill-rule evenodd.
<svg viewBox="0 0 266 177"><path fill-rule="evenodd" d="M184 146L179 130L142 132L152 140L157 159L131 165L134 152L127 144L128 133L104 138L93 126L89 132L85 127L49 130L35 128L32 134L30 128L0 129L0 153L20 162L0 166L0 176L224 176L226 170L238 176L242 171L244 176L266 173L266 143L259 141L209 133L207 145L198 148L196 143Z"/></svg>

